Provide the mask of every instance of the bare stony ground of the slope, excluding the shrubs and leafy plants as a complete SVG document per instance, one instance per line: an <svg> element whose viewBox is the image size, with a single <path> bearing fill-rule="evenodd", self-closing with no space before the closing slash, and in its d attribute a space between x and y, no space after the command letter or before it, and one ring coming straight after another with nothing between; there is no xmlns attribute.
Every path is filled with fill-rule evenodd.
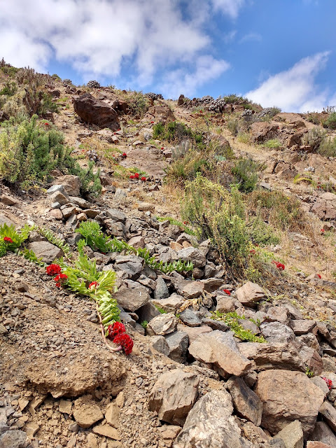
<svg viewBox="0 0 336 448"><path fill-rule="evenodd" d="M302 148L314 125L283 113L254 123L254 141L274 134L283 141L269 150L230 135L222 114L229 108L211 118L235 155L267 163L260 184L297 195L317 230L309 238L291 232L272 248L286 270L270 288L232 278L211 241L157 219L177 218L179 203L174 189L162 186L174 147L153 141L153 125L176 118L197 127L202 114L151 98L143 116L129 119L125 93L78 92L56 81L49 90L56 101L66 98L49 118L82 166L97 159L102 195L80 197L78 178L57 171L45 191L1 185L0 224L43 226L74 253L76 228L94 219L157 260L194 268L163 273L134 253L85 248L99 269L117 273L114 297L134 339L126 356L104 343L94 302L56 288L44 267L20 255L0 258L0 447L336 447L336 284L331 244L320 231L332 232L336 195L293 183L309 167L311 179L334 169L334 160ZM230 113L241 111L230 106ZM146 172L146 182L129 179L132 172ZM31 232L27 247L48 264L62 255L41 232Z"/></svg>

